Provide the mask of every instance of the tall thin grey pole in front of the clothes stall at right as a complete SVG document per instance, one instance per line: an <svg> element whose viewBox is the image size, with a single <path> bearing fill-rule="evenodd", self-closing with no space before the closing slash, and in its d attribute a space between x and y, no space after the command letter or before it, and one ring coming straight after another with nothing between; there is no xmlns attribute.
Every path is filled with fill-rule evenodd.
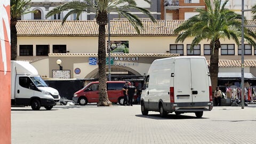
<svg viewBox="0 0 256 144"><path fill-rule="evenodd" d="M242 55L241 55L241 87L242 87L242 109L244 109L244 0L242 0Z"/></svg>

